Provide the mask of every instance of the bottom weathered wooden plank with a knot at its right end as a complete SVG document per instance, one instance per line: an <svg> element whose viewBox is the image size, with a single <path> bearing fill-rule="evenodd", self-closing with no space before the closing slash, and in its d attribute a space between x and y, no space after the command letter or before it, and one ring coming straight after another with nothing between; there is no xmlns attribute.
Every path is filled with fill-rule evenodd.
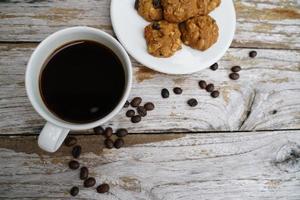
<svg viewBox="0 0 300 200"><path fill-rule="evenodd" d="M300 199L300 132L130 135L126 147L102 150L99 136L80 136L97 183L109 194L82 187L68 169L70 149L38 149L35 138L1 137L0 198L198 200Z"/></svg>

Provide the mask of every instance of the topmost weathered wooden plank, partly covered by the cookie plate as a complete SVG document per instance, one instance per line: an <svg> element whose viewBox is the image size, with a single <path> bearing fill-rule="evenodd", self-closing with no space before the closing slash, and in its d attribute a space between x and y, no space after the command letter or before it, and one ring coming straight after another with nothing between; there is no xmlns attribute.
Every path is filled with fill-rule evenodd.
<svg viewBox="0 0 300 200"><path fill-rule="evenodd" d="M0 2L0 41L40 41L64 27L87 25L111 33L109 0ZM300 48L297 0L236 0L233 47Z"/></svg>

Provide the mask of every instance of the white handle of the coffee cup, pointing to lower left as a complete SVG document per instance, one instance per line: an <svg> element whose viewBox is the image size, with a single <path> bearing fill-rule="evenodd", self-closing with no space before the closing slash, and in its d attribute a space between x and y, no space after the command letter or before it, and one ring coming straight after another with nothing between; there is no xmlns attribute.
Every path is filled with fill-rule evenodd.
<svg viewBox="0 0 300 200"><path fill-rule="evenodd" d="M38 139L40 148L48 152L55 152L67 137L70 129L46 123Z"/></svg>

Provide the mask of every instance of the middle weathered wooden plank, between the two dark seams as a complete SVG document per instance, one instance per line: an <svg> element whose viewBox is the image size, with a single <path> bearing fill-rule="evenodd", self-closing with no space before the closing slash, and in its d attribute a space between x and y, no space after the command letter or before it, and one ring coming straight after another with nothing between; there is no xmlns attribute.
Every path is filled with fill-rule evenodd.
<svg viewBox="0 0 300 200"><path fill-rule="evenodd" d="M35 44L0 44L0 134L38 133L44 124L32 109L24 88L26 62ZM125 117L126 109L112 121L114 128L130 132L237 131L300 128L300 53L287 50L258 50L248 57L248 49L230 49L219 62L219 70L171 76L147 70L134 61L130 99L141 96L156 109L139 124ZM230 68L241 65L241 79L228 78ZM171 67L171 66L170 66ZM216 85L221 96L212 99L198 87L200 79ZM174 95L172 88L183 88ZM162 88L171 91L162 99ZM199 106L186 101L195 97ZM108 125L108 124L107 124Z"/></svg>

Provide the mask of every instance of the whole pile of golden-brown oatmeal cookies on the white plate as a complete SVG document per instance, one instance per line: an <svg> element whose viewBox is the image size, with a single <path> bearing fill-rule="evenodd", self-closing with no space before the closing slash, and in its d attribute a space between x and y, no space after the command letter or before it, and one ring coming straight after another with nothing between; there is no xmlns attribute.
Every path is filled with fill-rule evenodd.
<svg viewBox="0 0 300 200"><path fill-rule="evenodd" d="M147 21L145 39L148 52L170 57L182 42L205 51L217 42L219 28L208 14L221 0L136 0L135 8Z"/></svg>

